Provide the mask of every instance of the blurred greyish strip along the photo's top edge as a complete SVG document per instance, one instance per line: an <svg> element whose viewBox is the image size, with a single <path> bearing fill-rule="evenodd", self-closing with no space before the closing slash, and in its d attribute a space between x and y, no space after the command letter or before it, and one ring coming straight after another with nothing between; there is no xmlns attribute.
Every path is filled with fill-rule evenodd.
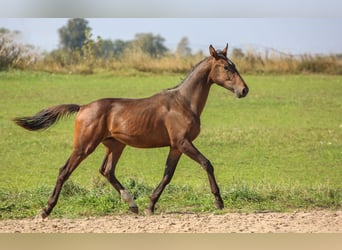
<svg viewBox="0 0 342 250"><path fill-rule="evenodd" d="M341 0L0 0L2 17L341 17Z"/></svg>

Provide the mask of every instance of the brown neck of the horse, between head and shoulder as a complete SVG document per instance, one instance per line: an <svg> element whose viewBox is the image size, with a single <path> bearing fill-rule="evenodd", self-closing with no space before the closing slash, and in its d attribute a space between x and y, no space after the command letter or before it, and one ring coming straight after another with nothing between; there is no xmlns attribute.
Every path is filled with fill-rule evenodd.
<svg viewBox="0 0 342 250"><path fill-rule="evenodd" d="M209 59L203 60L178 87L179 94L188 103L192 112L198 116L204 109L212 85L209 81L210 70Z"/></svg>

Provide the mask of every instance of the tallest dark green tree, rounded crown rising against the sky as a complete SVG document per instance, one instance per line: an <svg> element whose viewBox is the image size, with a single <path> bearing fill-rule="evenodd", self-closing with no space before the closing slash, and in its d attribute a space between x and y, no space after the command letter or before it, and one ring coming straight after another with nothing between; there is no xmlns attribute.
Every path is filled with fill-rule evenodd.
<svg viewBox="0 0 342 250"><path fill-rule="evenodd" d="M88 26L87 20L83 18L69 19L67 25L58 30L61 47L70 50L81 49L87 40L86 33L90 33L90 31L91 28Z"/></svg>

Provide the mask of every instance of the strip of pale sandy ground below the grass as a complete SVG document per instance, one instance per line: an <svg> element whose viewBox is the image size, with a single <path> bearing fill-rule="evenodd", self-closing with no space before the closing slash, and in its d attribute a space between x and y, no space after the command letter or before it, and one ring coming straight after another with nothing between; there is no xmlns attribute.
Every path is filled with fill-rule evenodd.
<svg viewBox="0 0 342 250"><path fill-rule="evenodd" d="M117 215L0 220L0 233L328 233L342 232L342 211Z"/></svg>

